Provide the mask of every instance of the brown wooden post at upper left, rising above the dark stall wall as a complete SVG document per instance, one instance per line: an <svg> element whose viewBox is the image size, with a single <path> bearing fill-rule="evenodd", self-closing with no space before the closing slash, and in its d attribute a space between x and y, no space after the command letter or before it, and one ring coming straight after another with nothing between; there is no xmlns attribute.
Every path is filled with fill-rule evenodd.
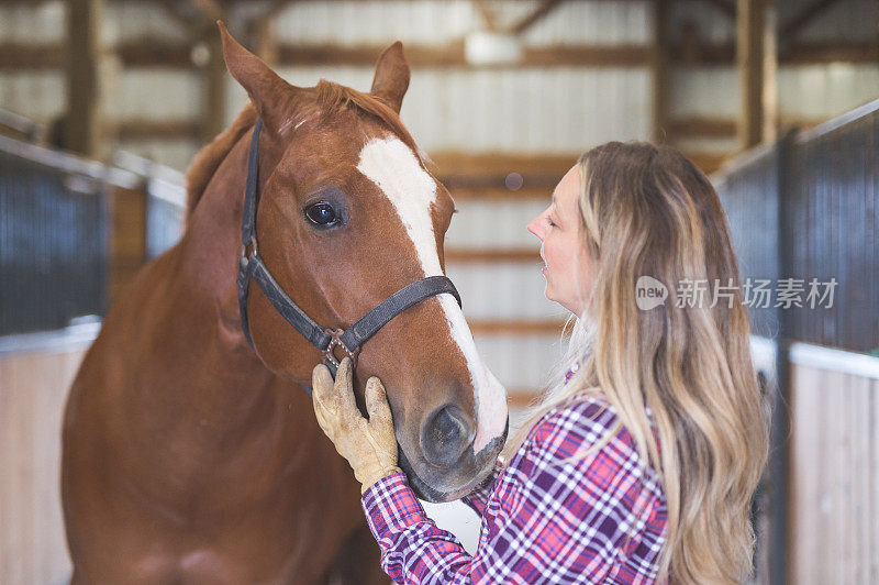
<svg viewBox="0 0 879 585"><path fill-rule="evenodd" d="M99 64L103 0L67 0L67 112L64 146L89 157L100 155Z"/></svg>

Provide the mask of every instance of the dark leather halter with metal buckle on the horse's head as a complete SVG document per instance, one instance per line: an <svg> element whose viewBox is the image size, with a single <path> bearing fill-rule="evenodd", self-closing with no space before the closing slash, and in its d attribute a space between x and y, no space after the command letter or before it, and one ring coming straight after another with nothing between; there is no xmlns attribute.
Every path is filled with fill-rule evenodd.
<svg viewBox="0 0 879 585"><path fill-rule="evenodd" d="M330 329L321 327L314 319L309 317L293 300L283 291L278 282L271 276L266 263L259 255L256 241L256 205L257 185L259 167L259 131L263 128L263 120L257 119L254 125L254 134L251 139L251 154L247 158L247 186L244 191L244 214L241 224L241 241L243 244L241 260L238 261L238 309L241 310L241 327L251 347L254 346L251 339L251 328L247 322L247 290L251 278L256 280L259 288L265 292L266 298L275 309L281 313L288 323L299 331L312 345L323 353L324 363L333 377L336 375L340 361L334 354L338 346L346 355L351 356L357 365L357 355L363 344L371 338L379 329L385 327L391 319L407 310L409 307L426 298L448 292L457 299L460 306L460 296L455 285L446 276L429 276L421 280L398 290L377 307L366 313L359 321L347 330ZM252 246L251 254L247 247Z"/></svg>

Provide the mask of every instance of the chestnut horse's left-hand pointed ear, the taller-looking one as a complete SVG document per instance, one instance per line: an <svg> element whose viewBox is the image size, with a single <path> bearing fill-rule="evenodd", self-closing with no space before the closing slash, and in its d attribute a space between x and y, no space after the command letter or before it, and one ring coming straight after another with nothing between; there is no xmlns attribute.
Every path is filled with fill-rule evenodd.
<svg viewBox="0 0 879 585"><path fill-rule="evenodd" d="M216 25L223 40L223 59L229 73L247 90L266 128L277 132L282 117L289 115L285 106L289 103L291 92L297 88L232 38L222 21L216 21Z"/></svg>

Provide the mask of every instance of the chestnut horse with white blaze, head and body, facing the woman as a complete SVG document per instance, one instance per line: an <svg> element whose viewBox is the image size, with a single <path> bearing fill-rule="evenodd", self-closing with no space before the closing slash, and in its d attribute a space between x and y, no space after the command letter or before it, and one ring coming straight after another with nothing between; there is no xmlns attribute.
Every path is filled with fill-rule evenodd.
<svg viewBox="0 0 879 585"><path fill-rule="evenodd" d="M402 45L370 93L288 85L221 26L237 120L188 174L187 229L104 320L64 421L73 583L387 582L347 463L318 427L321 353L236 271L257 117L259 254L315 321L345 329L404 286L444 274L454 211L399 119ZM355 394L385 383L401 462L422 497L472 489L494 461L505 394L455 298L399 313L363 346Z"/></svg>

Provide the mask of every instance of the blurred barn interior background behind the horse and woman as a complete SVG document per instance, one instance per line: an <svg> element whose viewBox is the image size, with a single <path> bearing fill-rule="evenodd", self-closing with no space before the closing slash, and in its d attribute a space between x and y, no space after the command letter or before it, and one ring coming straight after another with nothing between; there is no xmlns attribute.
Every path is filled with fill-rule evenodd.
<svg viewBox="0 0 879 585"><path fill-rule="evenodd" d="M218 20L297 86L368 91L403 43L400 115L459 210L447 275L513 423L569 316L527 222L592 146L693 161L743 280L801 294L750 311L774 405L752 583L879 583L876 0L0 0L0 583L69 577L65 398L114 299L179 240L192 158L247 103ZM832 285L814 299L811 280ZM475 515L427 509L475 549Z"/></svg>

